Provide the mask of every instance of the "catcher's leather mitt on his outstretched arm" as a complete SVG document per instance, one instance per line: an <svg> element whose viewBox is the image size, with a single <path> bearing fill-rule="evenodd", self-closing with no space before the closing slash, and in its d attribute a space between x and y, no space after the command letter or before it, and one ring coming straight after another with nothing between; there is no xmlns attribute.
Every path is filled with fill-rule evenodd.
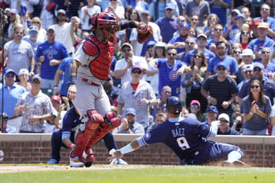
<svg viewBox="0 0 275 183"><path fill-rule="evenodd" d="M146 40L153 36L153 28L146 23L140 23L137 26L137 42L143 44Z"/></svg>

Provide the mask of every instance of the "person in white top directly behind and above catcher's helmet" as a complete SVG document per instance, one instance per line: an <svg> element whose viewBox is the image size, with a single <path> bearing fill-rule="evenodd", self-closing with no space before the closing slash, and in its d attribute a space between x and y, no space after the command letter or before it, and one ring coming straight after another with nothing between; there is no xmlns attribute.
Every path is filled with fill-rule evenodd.
<svg viewBox="0 0 275 183"><path fill-rule="evenodd" d="M89 24L89 19L92 18L93 14L99 13L100 6L94 4L94 0L87 0L88 5L83 6L80 10L80 21L82 24L83 31L89 31L92 25Z"/></svg>

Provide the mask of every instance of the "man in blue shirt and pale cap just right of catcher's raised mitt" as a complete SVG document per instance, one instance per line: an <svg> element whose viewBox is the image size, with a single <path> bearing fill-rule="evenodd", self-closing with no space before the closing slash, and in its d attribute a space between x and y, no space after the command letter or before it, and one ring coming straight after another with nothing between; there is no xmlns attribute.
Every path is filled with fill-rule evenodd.
<svg viewBox="0 0 275 183"><path fill-rule="evenodd" d="M174 32L177 31L177 18L174 16L174 12L175 6L172 3L166 3L166 16L159 18L157 19L157 21L155 21L155 23L159 26L160 34L162 35L162 41L166 43L171 38L173 38Z"/></svg>

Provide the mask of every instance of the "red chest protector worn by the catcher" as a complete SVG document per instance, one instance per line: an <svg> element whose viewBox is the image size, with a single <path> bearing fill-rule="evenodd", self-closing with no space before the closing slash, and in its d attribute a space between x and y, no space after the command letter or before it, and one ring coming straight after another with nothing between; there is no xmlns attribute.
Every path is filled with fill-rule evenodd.
<svg viewBox="0 0 275 183"><path fill-rule="evenodd" d="M90 35L83 43L83 51L93 56L90 60L91 73L100 80L107 80L113 59L113 42L101 42L94 35Z"/></svg>

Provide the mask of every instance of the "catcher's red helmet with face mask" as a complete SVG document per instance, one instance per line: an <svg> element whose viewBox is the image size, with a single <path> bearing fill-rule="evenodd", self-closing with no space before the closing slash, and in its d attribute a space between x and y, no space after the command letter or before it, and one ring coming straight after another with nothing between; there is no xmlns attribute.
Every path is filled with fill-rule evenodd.
<svg viewBox="0 0 275 183"><path fill-rule="evenodd" d="M115 42L115 34L120 31L118 19L113 14L100 12L93 15L91 19L92 29L99 28L105 37L105 40Z"/></svg>

